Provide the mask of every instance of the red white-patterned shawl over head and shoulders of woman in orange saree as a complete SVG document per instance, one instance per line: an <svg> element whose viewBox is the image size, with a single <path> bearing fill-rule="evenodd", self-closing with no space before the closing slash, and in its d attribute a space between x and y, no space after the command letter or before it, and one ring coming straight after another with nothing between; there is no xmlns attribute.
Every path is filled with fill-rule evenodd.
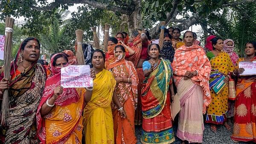
<svg viewBox="0 0 256 144"><path fill-rule="evenodd" d="M44 123L44 118L41 115L40 109L43 106L43 104L53 96L55 87L61 85L61 68L57 68L53 66L53 60L57 55L64 55L64 54L57 53L53 55L51 58L53 76L51 78L48 78L46 81L44 94L41 98L41 102L38 106L37 113L36 113L37 129L38 129L37 135L42 143L45 143L45 129L44 129L45 123ZM70 63L67 63L65 66L68 66L68 65L70 65ZM59 95L59 97L56 99L54 104L58 106L67 106L71 103L76 103L78 101L79 101L79 95L75 88L64 88L63 93Z"/></svg>

